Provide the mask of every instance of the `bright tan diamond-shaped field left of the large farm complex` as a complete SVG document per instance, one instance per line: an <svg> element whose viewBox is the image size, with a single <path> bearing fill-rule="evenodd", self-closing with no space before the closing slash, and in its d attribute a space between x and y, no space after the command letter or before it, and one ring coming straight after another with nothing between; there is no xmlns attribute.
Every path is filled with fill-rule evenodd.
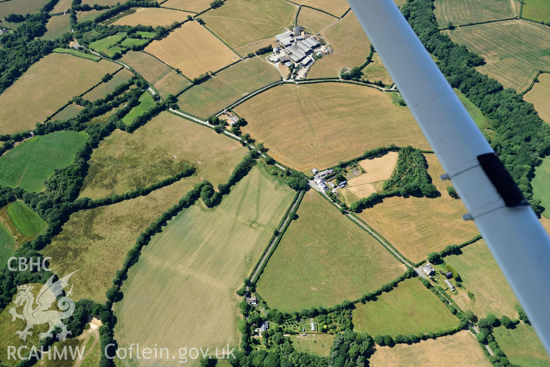
<svg viewBox="0 0 550 367"><path fill-rule="evenodd" d="M196 21L188 21L168 37L145 48L163 62L193 79L239 59L231 49Z"/></svg>

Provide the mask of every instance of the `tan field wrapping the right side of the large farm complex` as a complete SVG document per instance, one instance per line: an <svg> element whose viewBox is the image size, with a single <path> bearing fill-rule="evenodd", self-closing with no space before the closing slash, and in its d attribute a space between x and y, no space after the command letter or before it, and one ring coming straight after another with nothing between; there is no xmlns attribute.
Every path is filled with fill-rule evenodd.
<svg viewBox="0 0 550 367"><path fill-rule="evenodd" d="M353 12L346 14L342 20L323 31L321 35L332 46L334 53L317 60L311 66L308 77L335 77L344 66L351 69L367 60L371 41L368 40Z"/></svg>

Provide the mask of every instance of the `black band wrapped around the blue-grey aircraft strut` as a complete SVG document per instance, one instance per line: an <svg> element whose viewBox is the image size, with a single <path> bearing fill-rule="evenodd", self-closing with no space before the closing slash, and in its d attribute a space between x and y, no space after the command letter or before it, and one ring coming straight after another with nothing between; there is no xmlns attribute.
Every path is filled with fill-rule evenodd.
<svg viewBox="0 0 550 367"><path fill-rule="evenodd" d="M504 199L507 207L515 208L529 205L527 199L523 196L523 193L521 193L514 179L512 179L512 176L510 176L496 154L481 154L477 156L477 160L500 196Z"/></svg>

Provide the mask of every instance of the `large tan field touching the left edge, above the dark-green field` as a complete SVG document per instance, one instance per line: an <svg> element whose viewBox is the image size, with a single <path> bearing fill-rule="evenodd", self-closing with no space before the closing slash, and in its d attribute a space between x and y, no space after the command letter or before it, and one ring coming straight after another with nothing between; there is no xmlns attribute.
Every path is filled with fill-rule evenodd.
<svg viewBox="0 0 550 367"><path fill-rule="evenodd" d="M73 96L85 92L103 75L119 67L107 60L94 62L67 54L43 57L0 95L0 134L34 128ZM56 92L52 93L53 90Z"/></svg>

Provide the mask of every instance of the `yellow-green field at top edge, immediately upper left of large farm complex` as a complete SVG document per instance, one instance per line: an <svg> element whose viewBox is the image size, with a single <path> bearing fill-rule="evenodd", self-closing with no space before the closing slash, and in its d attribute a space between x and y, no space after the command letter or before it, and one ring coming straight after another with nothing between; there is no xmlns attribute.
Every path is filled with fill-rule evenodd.
<svg viewBox="0 0 550 367"><path fill-rule="evenodd" d="M296 5L284 0L229 0L200 18L230 47L278 35L294 23Z"/></svg>

